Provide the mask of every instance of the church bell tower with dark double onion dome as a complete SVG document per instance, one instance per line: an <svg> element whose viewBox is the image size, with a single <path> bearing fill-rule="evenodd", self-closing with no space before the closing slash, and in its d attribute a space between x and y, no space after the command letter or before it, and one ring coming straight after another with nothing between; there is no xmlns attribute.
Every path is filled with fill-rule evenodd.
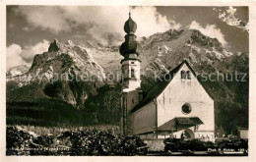
<svg viewBox="0 0 256 162"><path fill-rule="evenodd" d="M124 57L122 65L122 91L120 96L121 121L120 128L123 135L133 135L132 109L139 103L141 94L140 68L141 61L138 56L136 35L136 23L131 18L125 22L125 41L120 46L120 54Z"/></svg>

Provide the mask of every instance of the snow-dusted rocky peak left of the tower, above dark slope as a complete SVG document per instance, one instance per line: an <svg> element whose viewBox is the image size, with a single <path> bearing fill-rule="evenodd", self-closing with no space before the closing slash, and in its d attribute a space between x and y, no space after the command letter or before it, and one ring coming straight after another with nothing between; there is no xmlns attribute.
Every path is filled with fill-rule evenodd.
<svg viewBox="0 0 256 162"><path fill-rule="evenodd" d="M57 39L50 44L48 52L34 56L30 73L42 75L47 80L62 74L96 76L99 80L105 77L102 67L96 63L90 49L76 45L72 40L62 44Z"/></svg>

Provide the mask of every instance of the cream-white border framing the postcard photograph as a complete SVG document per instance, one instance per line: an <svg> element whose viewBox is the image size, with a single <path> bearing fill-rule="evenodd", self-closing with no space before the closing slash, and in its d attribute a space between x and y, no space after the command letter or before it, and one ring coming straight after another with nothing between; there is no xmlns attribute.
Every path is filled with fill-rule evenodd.
<svg viewBox="0 0 256 162"><path fill-rule="evenodd" d="M249 156L248 157L158 157L158 156L6 156L6 5L82 6L248 6L249 7ZM251 0L0 0L0 161L256 161L256 1Z"/></svg>

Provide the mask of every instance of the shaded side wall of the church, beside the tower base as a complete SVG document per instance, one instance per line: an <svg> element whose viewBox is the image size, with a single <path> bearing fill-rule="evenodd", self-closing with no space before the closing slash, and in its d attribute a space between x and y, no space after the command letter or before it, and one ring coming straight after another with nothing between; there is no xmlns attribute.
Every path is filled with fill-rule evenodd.
<svg viewBox="0 0 256 162"><path fill-rule="evenodd" d="M152 101L133 113L134 135L156 131L156 104Z"/></svg>

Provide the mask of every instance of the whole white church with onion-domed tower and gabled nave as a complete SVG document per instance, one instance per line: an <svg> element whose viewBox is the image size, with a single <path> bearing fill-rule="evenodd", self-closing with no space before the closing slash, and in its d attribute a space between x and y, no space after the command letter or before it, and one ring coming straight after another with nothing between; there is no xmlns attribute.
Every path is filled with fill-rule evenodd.
<svg viewBox="0 0 256 162"><path fill-rule="evenodd" d="M196 73L184 60L167 74L169 80L158 81L143 94L141 90L136 23L124 25L125 41L120 46L122 90L120 93L123 135L141 138L199 138L215 140L214 100L197 80Z"/></svg>

